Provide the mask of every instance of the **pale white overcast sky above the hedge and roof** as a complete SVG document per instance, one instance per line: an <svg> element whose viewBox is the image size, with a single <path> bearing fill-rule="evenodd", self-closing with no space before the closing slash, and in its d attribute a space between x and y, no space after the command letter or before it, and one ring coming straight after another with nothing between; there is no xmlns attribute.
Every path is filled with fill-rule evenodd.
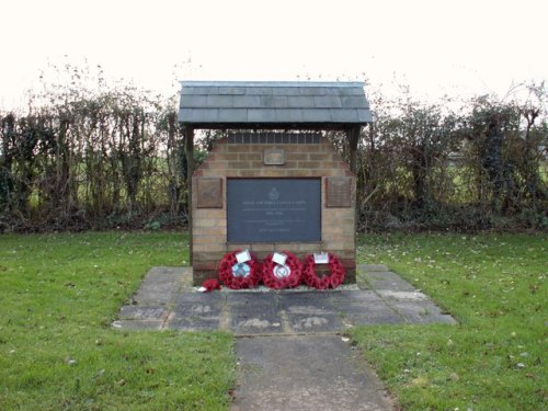
<svg viewBox="0 0 548 411"><path fill-rule="evenodd" d="M547 39L546 0L3 0L0 109L48 62L84 59L165 94L182 79L308 78L505 93L548 79Z"/></svg>

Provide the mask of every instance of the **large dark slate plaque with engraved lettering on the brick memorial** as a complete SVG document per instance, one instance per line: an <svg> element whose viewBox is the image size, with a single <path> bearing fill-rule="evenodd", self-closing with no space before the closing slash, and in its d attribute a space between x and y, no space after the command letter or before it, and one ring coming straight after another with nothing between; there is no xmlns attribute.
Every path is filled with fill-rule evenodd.
<svg viewBox="0 0 548 411"><path fill-rule="evenodd" d="M321 240L320 179L228 179L229 242Z"/></svg>

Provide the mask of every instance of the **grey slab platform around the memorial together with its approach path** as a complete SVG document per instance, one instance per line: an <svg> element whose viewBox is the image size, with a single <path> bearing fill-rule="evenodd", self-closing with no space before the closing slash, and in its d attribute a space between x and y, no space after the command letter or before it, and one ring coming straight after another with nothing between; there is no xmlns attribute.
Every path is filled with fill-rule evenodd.
<svg viewBox="0 0 548 411"><path fill-rule="evenodd" d="M236 339L232 411L395 411L397 401L341 335L354 326L456 321L384 265L334 290L198 293L190 267L155 267L113 327L226 330Z"/></svg>

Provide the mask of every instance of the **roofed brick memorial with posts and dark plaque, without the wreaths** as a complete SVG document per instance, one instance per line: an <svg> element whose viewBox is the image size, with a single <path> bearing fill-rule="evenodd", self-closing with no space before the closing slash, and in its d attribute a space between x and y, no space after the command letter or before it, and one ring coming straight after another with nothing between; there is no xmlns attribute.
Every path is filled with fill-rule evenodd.
<svg viewBox="0 0 548 411"><path fill-rule="evenodd" d="M335 254L355 281L356 149L372 122L362 82L182 82L194 284L231 251ZM196 129L225 129L194 169ZM346 133L350 163L322 132Z"/></svg>

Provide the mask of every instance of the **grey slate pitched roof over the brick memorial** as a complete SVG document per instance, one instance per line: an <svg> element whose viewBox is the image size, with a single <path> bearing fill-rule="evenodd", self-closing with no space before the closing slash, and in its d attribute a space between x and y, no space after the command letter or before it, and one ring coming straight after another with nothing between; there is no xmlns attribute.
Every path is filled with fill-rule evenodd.
<svg viewBox="0 0 548 411"><path fill-rule="evenodd" d="M179 122L196 128L339 128L372 122L363 82L183 81Z"/></svg>

